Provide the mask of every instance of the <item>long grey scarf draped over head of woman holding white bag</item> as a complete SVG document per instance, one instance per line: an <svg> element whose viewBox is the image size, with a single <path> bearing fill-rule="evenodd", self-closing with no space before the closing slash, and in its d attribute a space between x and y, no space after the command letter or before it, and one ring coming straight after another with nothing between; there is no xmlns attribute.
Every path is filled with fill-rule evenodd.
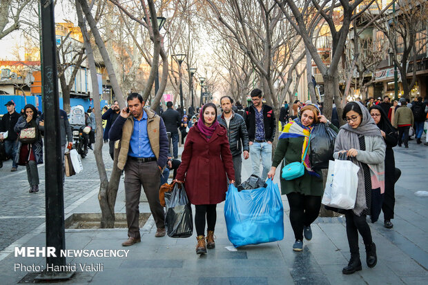
<svg viewBox="0 0 428 285"><path fill-rule="evenodd" d="M360 141L358 139L359 135L379 136L380 138L382 138L380 129L378 128L378 126L376 126L376 123L371 117L369 110L367 110L367 108L364 107L364 105L362 105L360 102L357 103L358 106L360 106L362 112L361 124L357 128L352 128L351 126L349 126L349 124L344 124L342 127L340 127L340 132L338 133L338 137L336 137L335 140L335 153L340 150L349 150L351 148L360 150ZM366 150L368 150L368 147L369 146L366 146ZM360 215L365 208L368 208L370 206L367 206L366 202L364 172L362 170L361 162L358 161L356 157L351 157L351 161L360 167L360 170L358 170L357 199L356 204L353 208L353 212L356 213L356 215Z"/></svg>

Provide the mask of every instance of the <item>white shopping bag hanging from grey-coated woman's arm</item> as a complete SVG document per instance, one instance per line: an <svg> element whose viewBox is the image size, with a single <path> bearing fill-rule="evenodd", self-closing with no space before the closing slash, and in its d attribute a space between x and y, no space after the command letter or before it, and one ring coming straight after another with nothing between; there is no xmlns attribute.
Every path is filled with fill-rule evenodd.
<svg viewBox="0 0 428 285"><path fill-rule="evenodd" d="M329 161L329 173L322 204L340 209L353 209L356 204L360 168L350 160Z"/></svg>

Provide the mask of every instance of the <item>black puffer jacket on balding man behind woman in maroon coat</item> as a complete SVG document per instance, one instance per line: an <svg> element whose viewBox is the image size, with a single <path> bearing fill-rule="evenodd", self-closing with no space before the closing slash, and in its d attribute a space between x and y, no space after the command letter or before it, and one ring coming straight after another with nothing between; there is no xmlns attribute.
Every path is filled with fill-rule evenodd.
<svg viewBox="0 0 428 285"><path fill-rule="evenodd" d="M248 152L250 151L250 146L249 134L246 131L244 118L235 112L233 112L232 116L229 127L227 127L224 114L218 115L217 121L227 130L227 138L231 147L232 156L234 157L235 155L241 155L242 146L244 146L244 150Z"/></svg>

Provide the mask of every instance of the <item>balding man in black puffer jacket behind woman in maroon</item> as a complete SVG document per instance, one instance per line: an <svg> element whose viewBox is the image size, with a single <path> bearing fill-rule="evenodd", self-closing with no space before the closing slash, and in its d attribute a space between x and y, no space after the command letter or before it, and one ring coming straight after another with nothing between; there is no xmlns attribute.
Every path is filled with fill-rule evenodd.
<svg viewBox="0 0 428 285"><path fill-rule="evenodd" d="M249 135L246 131L244 118L232 110L233 99L228 96L220 98L222 114L217 117L219 124L227 130L229 147L233 156L233 168L235 170L235 186L241 184L242 146L244 146L244 159L250 156Z"/></svg>

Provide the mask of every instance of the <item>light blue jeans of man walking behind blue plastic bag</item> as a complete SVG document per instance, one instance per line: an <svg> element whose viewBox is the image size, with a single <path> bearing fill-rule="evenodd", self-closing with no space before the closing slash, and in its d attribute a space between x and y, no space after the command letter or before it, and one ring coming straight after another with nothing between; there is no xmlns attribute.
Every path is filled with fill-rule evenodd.
<svg viewBox="0 0 428 285"><path fill-rule="evenodd" d="M253 175L257 175L265 181L272 166L272 144L266 142L251 144L250 157ZM263 166L262 176L260 176L260 159L262 159Z"/></svg>

